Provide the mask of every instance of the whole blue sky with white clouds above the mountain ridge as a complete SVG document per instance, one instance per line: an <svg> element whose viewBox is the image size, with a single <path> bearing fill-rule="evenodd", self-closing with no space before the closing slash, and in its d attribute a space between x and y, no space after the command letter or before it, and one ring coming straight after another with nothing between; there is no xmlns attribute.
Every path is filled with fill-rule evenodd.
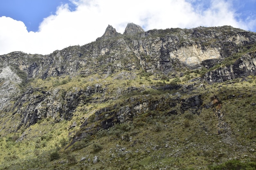
<svg viewBox="0 0 256 170"><path fill-rule="evenodd" d="M0 0L0 55L50 54L101 37L108 24L124 33L230 25L256 32L256 0Z"/></svg>

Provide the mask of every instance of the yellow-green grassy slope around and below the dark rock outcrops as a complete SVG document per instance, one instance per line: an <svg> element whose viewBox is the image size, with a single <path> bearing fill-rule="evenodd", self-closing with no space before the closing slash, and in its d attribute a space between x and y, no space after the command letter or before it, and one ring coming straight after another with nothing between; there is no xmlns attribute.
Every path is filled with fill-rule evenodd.
<svg viewBox="0 0 256 170"><path fill-rule="evenodd" d="M190 77L195 76L192 74ZM193 115L189 111L184 114L179 112L178 115L166 115L166 111L161 110L151 111L109 130L100 130L64 150L83 123L80 122L81 118L93 115L94 110L121 103L128 98L117 95L114 96L115 99L111 99L112 94L117 94L114 92L118 88L145 88L152 99L177 97L170 95L176 91L159 93L148 88L168 83L153 80L153 75L137 76L130 80L113 77L115 75L106 79L102 79L100 75L72 79L63 77L58 80L35 79L31 85L47 89L58 87L72 90L74 87L85 88L100 83L110 90L105 96L109 100L79 106L71 121L55 123L51 118L44 119L26 129L23 133L26 134L25 139L19 142L15 140L22 134L22 129L8 135L2 132L0 169L205 169L211 164L229 159L255 161L255 77L248 77L247 81L236 79L222 84L204 83L203 87L197 84L194 91L184 94L181 92L184 99L195 94L202 95L203 107L200 115ZM67 81L61 83L64 79ZM91 81L92 79L94 80ZM188 79L188 76L180 79ZM170 81L173 80L177 81ZM189 83L182 81L179 84ZM100 98L102 94L95 94L94 97L97 95ZM144 97L143 93L132 95ZM208 105L211 107L207 108ZM179 107L179 104L175 106L176 109ZM220 110L221 116L216 116L216 110ZM70 129L74 121L78 125ZM11 126L11 122L9 123ZM98 163L92 162L94 156L99 157ZM85 157L84 161L80 161L82 157Z"/></svg>

